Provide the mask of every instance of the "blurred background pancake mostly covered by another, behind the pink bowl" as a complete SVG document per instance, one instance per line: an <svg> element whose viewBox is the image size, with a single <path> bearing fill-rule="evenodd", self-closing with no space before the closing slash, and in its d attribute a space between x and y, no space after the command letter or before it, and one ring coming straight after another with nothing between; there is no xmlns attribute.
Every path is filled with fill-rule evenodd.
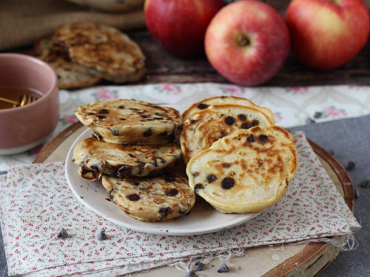
<svg viewBox="0 0 370 277"><path fill-rule="evenodd" d="M101 81L101 78L89 72L87 67L71 61L68 52L55 42L54 35L38 40L29 54L42 59L54 69L59 88L82 88Z"/></svg>

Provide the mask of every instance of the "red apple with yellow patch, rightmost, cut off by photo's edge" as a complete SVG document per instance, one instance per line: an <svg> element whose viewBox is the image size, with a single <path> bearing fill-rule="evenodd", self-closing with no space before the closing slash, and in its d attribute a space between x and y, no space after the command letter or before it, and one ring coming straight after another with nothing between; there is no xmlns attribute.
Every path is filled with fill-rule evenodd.
<svg viewBox="0 0 370 277"><path fill-rule="evenodd" d="M293 0L285 20L294 52L316 69L350 61L369 36L369 12L362 0Z"/></svg>

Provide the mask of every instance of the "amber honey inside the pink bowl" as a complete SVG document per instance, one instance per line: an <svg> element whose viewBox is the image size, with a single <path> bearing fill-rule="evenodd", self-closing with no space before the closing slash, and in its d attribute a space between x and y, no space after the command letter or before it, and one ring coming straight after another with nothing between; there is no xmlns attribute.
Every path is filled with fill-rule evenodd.
<svg viewBox="0 0 370 277"><path fill-rule="evenodd" d="M43 93L38 91L37 89L33 88L8 88L8 87L0 87L0 97L20 102L20 99L23 95L33 96L36 99L41 98ZM13 108L13 103L8 103L6 101L0 100L0 109L10 109Z"/></svg>

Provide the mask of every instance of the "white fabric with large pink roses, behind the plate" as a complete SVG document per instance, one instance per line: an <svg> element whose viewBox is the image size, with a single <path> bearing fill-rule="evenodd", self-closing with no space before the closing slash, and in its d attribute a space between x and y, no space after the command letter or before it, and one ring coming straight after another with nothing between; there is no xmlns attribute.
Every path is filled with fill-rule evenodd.
<svg viewBox="0 0 370 277"><path fill-rule="evenodd" d="M69 125L77 122L74 110L95 100L137 99L151 103L190 106L204 98L232 95L252 100L274 113L283 127L303 125L308 118L316 122L356 117L370 113L369 86L312 86L286 88L248 88L219 83L160 83L134 86L96 86L81 90L60 90L60 120L45 143L26 153L0 156L0 171L9 165L29 164L42 147ZM315 113L320 117L315 118Z"/></svg>

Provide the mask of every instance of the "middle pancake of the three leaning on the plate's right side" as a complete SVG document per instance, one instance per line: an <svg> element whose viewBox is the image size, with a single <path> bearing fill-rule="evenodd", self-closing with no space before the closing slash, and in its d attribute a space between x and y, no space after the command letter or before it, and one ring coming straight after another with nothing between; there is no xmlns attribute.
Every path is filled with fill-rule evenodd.
<svg viewBox="0 0 370 277"><path fill-rule="evenodd" d="M219 138L240 129L273 125L260 110L240 105L210 106L192 114L182 125L180 144L185 164Z"/></svg>

